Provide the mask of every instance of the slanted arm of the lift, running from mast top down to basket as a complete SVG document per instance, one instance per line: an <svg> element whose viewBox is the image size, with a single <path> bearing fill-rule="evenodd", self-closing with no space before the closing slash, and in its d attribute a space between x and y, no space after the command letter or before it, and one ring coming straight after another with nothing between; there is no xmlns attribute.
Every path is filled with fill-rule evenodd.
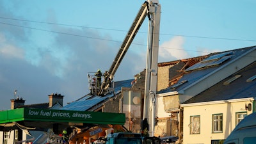
<svg viewBox="0 0 256 144"><path fill-rule="evenodd" d="M134 22L132 23L131 28L129 29L127 35L125 36L125 39L116 54L115 60L113 61L111 67L108 70L108 75L105 76L103 83L100 86L99 93L98 95L104 95L104 91L108 89L109 84L108 81L109 79L113 79L113 76L115 75L115 72L117 68L119 67L121 61L123 60L125 53L129 49L132 40L136 36L138 30L140 29L141 24L145 20L145 17L147 16L147 11L148 11L148 2L145 1L145 3L142 4L140 11L138 12L136 18L134 19Z"/></svg>

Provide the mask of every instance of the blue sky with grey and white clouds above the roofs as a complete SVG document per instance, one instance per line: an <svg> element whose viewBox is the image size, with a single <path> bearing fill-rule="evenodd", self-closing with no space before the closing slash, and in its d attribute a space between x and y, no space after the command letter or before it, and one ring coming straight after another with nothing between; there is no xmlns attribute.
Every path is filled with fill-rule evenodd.
<svg viewBox="0 0 256 144"><path fill-rule="evenodd" d="M0 1L0 109L14 90L26 104L88 93L87 72L108 70L144 1ZM159 62L256 45L256 1L159 1ZM145 68L145 19L115 80ZM140 61L140 63L138 63Z"/></svg>

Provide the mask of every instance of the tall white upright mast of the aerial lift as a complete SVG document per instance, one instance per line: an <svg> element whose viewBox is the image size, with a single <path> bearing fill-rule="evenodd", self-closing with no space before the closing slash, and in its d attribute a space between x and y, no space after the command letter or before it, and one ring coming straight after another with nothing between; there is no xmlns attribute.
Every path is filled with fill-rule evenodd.
<svg viewBox="0 0 256 144"><path fill-rule="evenodd" d="M158 1L150 1L148 9L150 19L148 21L143 120L148 120L148 132L151 133L151 136L154 136L161 5Z"/></svg>

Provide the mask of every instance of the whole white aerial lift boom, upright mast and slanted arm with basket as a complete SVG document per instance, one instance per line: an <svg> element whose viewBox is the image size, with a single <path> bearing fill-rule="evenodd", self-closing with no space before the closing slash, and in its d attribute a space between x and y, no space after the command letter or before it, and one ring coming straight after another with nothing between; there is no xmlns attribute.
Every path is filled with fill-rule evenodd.
<svg viewBox="0 0 256 144"><path fill-rule="evenodd" d="M116 54L115 60L111 67L104 74L104 81L100 87L95 86L95 79L89 74L88 78L91 78L89 82L94 82L94 89L90 83L90 89L92 93L104 97L109 92L109 87L112 84L113 77L121 61L123 60L125 53L129 49L132 40L136 36L136 33L140 29L141 24L148 17L148 45L147 45L147 65L145 74L145 98L144 98L144 111L143 120L148 120L149 127L148 132L154 136L154 119L155 119L155 102L156 102L156 90L157 90L157 63L158 63L158 48L159 48L159 28L160 28L160 15L161 5L158 0L148 0L141 5L140 11L136 15L131 28L125 36L122 45ZM95 77L94 77L95 78Z"/></svg>

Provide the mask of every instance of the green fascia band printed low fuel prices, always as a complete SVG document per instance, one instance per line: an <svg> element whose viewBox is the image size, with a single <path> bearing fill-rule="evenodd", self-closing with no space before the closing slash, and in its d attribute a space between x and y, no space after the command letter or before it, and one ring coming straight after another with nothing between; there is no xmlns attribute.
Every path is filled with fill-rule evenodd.
<svg viewBox="0 0 256 144"><path fill-rule="evenodd" d="M34 108L19 108L0 111L0 124L20 121L124 125L125 114Z"/></svg>

